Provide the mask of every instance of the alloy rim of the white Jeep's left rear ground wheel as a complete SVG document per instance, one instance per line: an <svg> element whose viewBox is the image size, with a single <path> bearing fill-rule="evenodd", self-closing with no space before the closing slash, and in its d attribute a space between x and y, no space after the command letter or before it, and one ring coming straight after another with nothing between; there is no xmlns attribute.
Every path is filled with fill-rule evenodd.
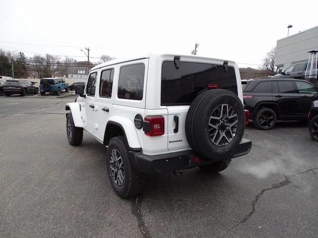
<svg viewBox="0 0 318 238"><path fill-rule="evenodd" d="M109 168L111 177L117 186L121 186L125 180L125 169L122 157L117 149L112 149L110 154Z"/></svg>

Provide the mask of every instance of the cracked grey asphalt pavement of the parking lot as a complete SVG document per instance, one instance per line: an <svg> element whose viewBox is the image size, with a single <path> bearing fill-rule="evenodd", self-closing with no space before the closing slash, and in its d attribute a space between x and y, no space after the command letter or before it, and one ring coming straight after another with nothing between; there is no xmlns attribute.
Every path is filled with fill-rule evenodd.
<svg viewBox="0 0 318 238"><path fill-rule="evenodd" d="M318 144L306 124L252 126L252 151L219 175L146 179L121 199L105 151L68 144L67 98L0 96L0 237L317 237Z"/></svg>

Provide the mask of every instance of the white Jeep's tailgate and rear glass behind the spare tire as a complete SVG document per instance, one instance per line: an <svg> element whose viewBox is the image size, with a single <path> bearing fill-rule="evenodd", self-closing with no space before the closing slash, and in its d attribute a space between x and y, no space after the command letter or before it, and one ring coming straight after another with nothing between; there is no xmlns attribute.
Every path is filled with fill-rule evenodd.
<svg viewBox="0 0 318 238"><path fill-rule="evenodd" d="M187 112L197 94L208 90L209 85L238 94L234 67L229 66L225 71L220 62L180 61L179 68L176 68L173 60L162 62L161 106L166 106L168 111L168 150L190 147L185 135Z"/></svg>

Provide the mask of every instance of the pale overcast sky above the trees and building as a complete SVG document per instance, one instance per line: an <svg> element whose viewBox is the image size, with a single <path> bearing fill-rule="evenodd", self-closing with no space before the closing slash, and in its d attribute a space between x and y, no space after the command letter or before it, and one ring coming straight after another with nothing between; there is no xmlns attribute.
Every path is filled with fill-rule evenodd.
<svg viewBox="0 0 318 238"><path fill-rule="evenodd" d="M0 0L0 48L85 60L85 46L122 58L191 54L199 42L199 56L260 64L289 24L290 35L318 24L313 9L317 0Z"/></svg>

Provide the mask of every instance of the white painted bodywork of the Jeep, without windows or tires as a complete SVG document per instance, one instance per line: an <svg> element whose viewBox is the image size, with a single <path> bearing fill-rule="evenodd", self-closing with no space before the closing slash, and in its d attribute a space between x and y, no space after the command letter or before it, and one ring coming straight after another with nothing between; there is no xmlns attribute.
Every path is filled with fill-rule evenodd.
<svg viewBox="0 0 318 238"><path fill-rule="evenodd" d="M185 118L189 106L161 106L162 62L165 60L173 60L174 56L176 55L150 54L128 60L111 60L92 68L90 73L97 72L95 96L86 96L86 98L79 97L77 103L68 104L70 105L76 126L84 127L84 129L90 132L90 134L98 141L103 141L107 122L111 120L120 123L125 130L129 146L131 148L141 148L142 152L148 155L191 149L185 135ZM181 55L180 57L181 61L218 65L223 65L223 62L225 61L197 56ZM238 65L234 61L226 61L228 61L228 66L232 66L235 69L238 96L241 102L243 102ZM136 63L145 64L143 98L140 101L119 99L117 95L120 68L124 65ZM114 69L111 98L100 97L99 80L101 71L111 68ZM80 112L79 104L82 106ZM94 105L94 109L90 108L89 105ZM109 112L102 111L102 108L105 107L109 109ZM137 114L142 115L143 118L146 116L163 116L164 134L160 136L147 136L143 129L136 129L134 118ZM177 133L174 133L173 131L175 128L175 123L173 121L174 116L178 116L179 118Z"/></svg>

